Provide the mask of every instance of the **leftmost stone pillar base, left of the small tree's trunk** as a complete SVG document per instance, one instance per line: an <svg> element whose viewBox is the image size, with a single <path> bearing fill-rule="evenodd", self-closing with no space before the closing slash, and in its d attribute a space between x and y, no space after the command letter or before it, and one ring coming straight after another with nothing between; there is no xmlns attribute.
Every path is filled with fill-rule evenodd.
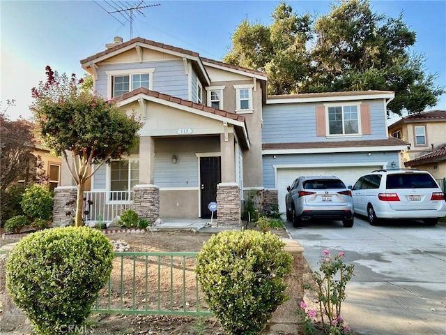
<svg viewBox="0 0 446 335"><path fill-rule="evenodd" d="M53 226L72 225L76 215L76 186L59 186L54 188Z"/></svg>

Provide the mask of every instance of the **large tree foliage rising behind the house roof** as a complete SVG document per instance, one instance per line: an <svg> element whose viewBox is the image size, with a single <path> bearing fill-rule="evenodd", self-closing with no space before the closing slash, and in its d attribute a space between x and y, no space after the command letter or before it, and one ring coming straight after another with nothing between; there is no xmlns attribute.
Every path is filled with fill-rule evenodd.
<svg viewBox="0 0 446 335"><path fill-rule="evenodd" d="M255 38L259 27L261 38ZM224 61L265 70L269 94L394 91L387 112L401 115L422 112L445 92L436 75L424 72L424 56L410 54L415 41L402 14L374 13L369 0L339 0L314 20L282 2L269 27L247 20L237 27Z"/></svg>

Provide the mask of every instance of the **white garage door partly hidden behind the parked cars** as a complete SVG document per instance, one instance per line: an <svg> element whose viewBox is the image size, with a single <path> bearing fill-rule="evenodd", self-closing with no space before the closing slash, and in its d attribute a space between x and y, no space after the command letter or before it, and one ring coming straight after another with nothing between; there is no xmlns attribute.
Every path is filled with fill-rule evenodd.
<svg viewBox="0 0 446 335"><path fill-rule="evenodd" d="M373 170L382 169L378 166L342 166L331 168L277 168L277 195L279 197L279 211L285 212L286 186L290 186L294 179L300 176L336 176L339 177L346 186L353 186L355 181L362 175Z"/></svg>

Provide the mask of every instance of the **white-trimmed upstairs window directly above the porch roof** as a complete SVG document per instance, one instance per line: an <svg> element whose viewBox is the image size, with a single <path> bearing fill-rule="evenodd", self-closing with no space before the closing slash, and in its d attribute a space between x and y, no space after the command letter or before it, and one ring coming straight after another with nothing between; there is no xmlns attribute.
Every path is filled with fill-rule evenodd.
<svg viewBox="0 0 446 335"><path fill-rule="evenodd" d="M116 96L121 96L139 87L152 89L154 70L155 68L141 68L106 71L110 97L116 98Z"/></svg>

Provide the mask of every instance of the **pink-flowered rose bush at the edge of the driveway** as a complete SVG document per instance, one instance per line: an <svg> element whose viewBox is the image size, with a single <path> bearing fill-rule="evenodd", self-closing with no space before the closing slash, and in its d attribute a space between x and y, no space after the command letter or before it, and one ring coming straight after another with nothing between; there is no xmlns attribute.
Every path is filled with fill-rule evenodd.
<svg viewBox="0 0 446 335"><path fill-rule="evenodd" d="M345 264L343 252L339 252L334 258L328 250L324 250L323 254L323 259L319 262L319 269L313 272L313 278L316 282L314 290L318 295L324 333L328 335L351 334L351 329L344 325L344 319L341 317L341 303L346 299L346 283L351 280L355 266ZM300 308L305 314L305 334L314 334L316 312L307 309L305 301L301 301ZM328 318L328 322L326 318Z"/></svg>

